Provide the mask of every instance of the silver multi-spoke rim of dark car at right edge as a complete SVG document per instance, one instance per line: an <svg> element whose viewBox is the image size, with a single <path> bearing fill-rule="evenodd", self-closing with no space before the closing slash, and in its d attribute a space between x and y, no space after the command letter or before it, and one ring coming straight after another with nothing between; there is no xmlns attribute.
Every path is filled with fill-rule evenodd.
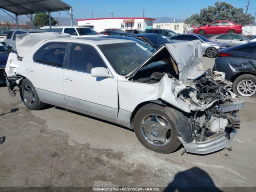
<svg viewBox="0 0 256 192"><path fill-rule="evenodd" d="M252 80L242 80L238 83L236 90L240 95L250 97L256 92L256 84Z"/></svg>

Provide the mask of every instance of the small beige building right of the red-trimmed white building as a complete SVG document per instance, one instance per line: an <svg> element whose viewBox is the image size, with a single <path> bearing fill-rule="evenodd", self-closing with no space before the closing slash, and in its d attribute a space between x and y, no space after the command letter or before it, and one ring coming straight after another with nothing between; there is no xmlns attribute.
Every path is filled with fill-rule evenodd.
<svg viewBox="0 0 256 192"><path fill-rule="evenodd" d="M184 23L153 23L153 28L169 29L176 33L184 33L188 31L188 25Z"/></svg>

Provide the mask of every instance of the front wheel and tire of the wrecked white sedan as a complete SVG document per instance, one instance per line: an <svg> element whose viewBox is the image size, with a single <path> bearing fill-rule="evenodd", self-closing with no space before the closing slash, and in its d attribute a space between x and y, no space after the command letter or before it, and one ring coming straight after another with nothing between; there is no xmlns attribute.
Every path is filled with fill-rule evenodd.
<svg viewBox="0 0 256 192"><path fill-rule="evenodd" d="M180 146L178 132L172 119L166 114L164 106L146 104L134 116L134 132L141 144L149 150L171 153Z"/></svg>

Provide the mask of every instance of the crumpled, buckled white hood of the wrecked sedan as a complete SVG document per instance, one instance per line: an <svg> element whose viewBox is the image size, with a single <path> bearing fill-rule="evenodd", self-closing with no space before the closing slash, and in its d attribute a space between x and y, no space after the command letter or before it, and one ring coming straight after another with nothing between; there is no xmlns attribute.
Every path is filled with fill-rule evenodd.
<svg viewBox="0 0 256 192"><path fill-rule="evenodd" d="M134 77L142 67L152 62L156 62L162 54L166 54L166 50L176 63L179 80L186 81L187 79L196 79L205 73L205 70L202 67L203 54L201 42L199 40L194 40L190 42L168 43L162 45L134 71L127 74L126 77Z"/></svg>

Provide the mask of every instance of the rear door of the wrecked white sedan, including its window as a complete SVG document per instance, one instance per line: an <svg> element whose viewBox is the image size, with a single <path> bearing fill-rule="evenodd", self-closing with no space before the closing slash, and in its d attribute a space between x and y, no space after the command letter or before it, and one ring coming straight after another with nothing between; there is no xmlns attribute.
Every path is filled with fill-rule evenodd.
<svg viewBox="0 0 256 192"><path fill-rule="evenodd" d="M26 61L26 77L42 102L65 106L63 73L67 44L47 42L36 50L33 62Z"/></svg>

